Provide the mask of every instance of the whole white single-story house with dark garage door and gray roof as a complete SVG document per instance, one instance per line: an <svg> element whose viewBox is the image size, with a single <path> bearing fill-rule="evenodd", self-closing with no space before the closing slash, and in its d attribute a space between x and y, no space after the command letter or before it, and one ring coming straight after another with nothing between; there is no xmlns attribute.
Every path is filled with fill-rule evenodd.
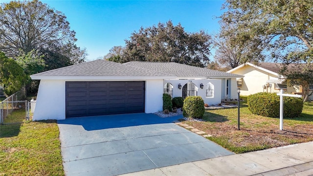
<svg viewBox="0 0 313 176"><path fill-rule="evenodd" d="M218 104L237 96L238 77L243 76L177 63L95 60L31 75L41 80L33 120L153 113L162 110L163 93L199 95Z"/></svg>

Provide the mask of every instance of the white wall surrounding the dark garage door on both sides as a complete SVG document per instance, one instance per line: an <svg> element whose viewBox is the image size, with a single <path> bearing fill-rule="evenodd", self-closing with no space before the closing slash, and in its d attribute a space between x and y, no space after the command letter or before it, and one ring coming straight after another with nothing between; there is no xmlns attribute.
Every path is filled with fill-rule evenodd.
<svg viewBox="0 0 313 176"><path fill-rule="evenodd" d="M112 80L41 80L36 109L33 120L66 118L66 81L112 81ZM162 110L163 80L118 80L118 81L145 81L145 113Z"/></svg>

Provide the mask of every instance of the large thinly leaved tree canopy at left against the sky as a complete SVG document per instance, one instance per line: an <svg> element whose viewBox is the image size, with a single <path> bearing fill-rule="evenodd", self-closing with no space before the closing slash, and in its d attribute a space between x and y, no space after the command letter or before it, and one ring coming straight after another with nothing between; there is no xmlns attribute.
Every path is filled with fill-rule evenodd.
<svg viewBox="0 0 313 176"><path fill-rule="evenodd" d="M0 50L8 57L35 50L38 57L44 55L46 70L85 62L86 49L74 44L75 32L62 12L25 0L2 3L0 16Z"/></svg>

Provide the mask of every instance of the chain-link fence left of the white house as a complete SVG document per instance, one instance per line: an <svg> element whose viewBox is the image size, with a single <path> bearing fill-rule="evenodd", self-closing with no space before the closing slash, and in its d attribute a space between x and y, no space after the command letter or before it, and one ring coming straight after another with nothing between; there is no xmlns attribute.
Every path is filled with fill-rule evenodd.
<svg viewBox="0 0 313 176"><path fill-rule="evenodd" d="M0 103L0 124L29 120L29 102L21 101L23 97L23 91L18 91Z"/></svg>

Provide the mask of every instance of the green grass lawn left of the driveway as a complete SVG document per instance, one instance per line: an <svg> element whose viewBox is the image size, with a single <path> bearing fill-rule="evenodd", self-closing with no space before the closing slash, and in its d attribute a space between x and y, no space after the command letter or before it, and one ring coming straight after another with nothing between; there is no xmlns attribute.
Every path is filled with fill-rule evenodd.
<svg viewBox="0 0 313 176"><path fill-rule="evenodd" d="M0 126L0 176L63 176L55 120Z"/></svg>

